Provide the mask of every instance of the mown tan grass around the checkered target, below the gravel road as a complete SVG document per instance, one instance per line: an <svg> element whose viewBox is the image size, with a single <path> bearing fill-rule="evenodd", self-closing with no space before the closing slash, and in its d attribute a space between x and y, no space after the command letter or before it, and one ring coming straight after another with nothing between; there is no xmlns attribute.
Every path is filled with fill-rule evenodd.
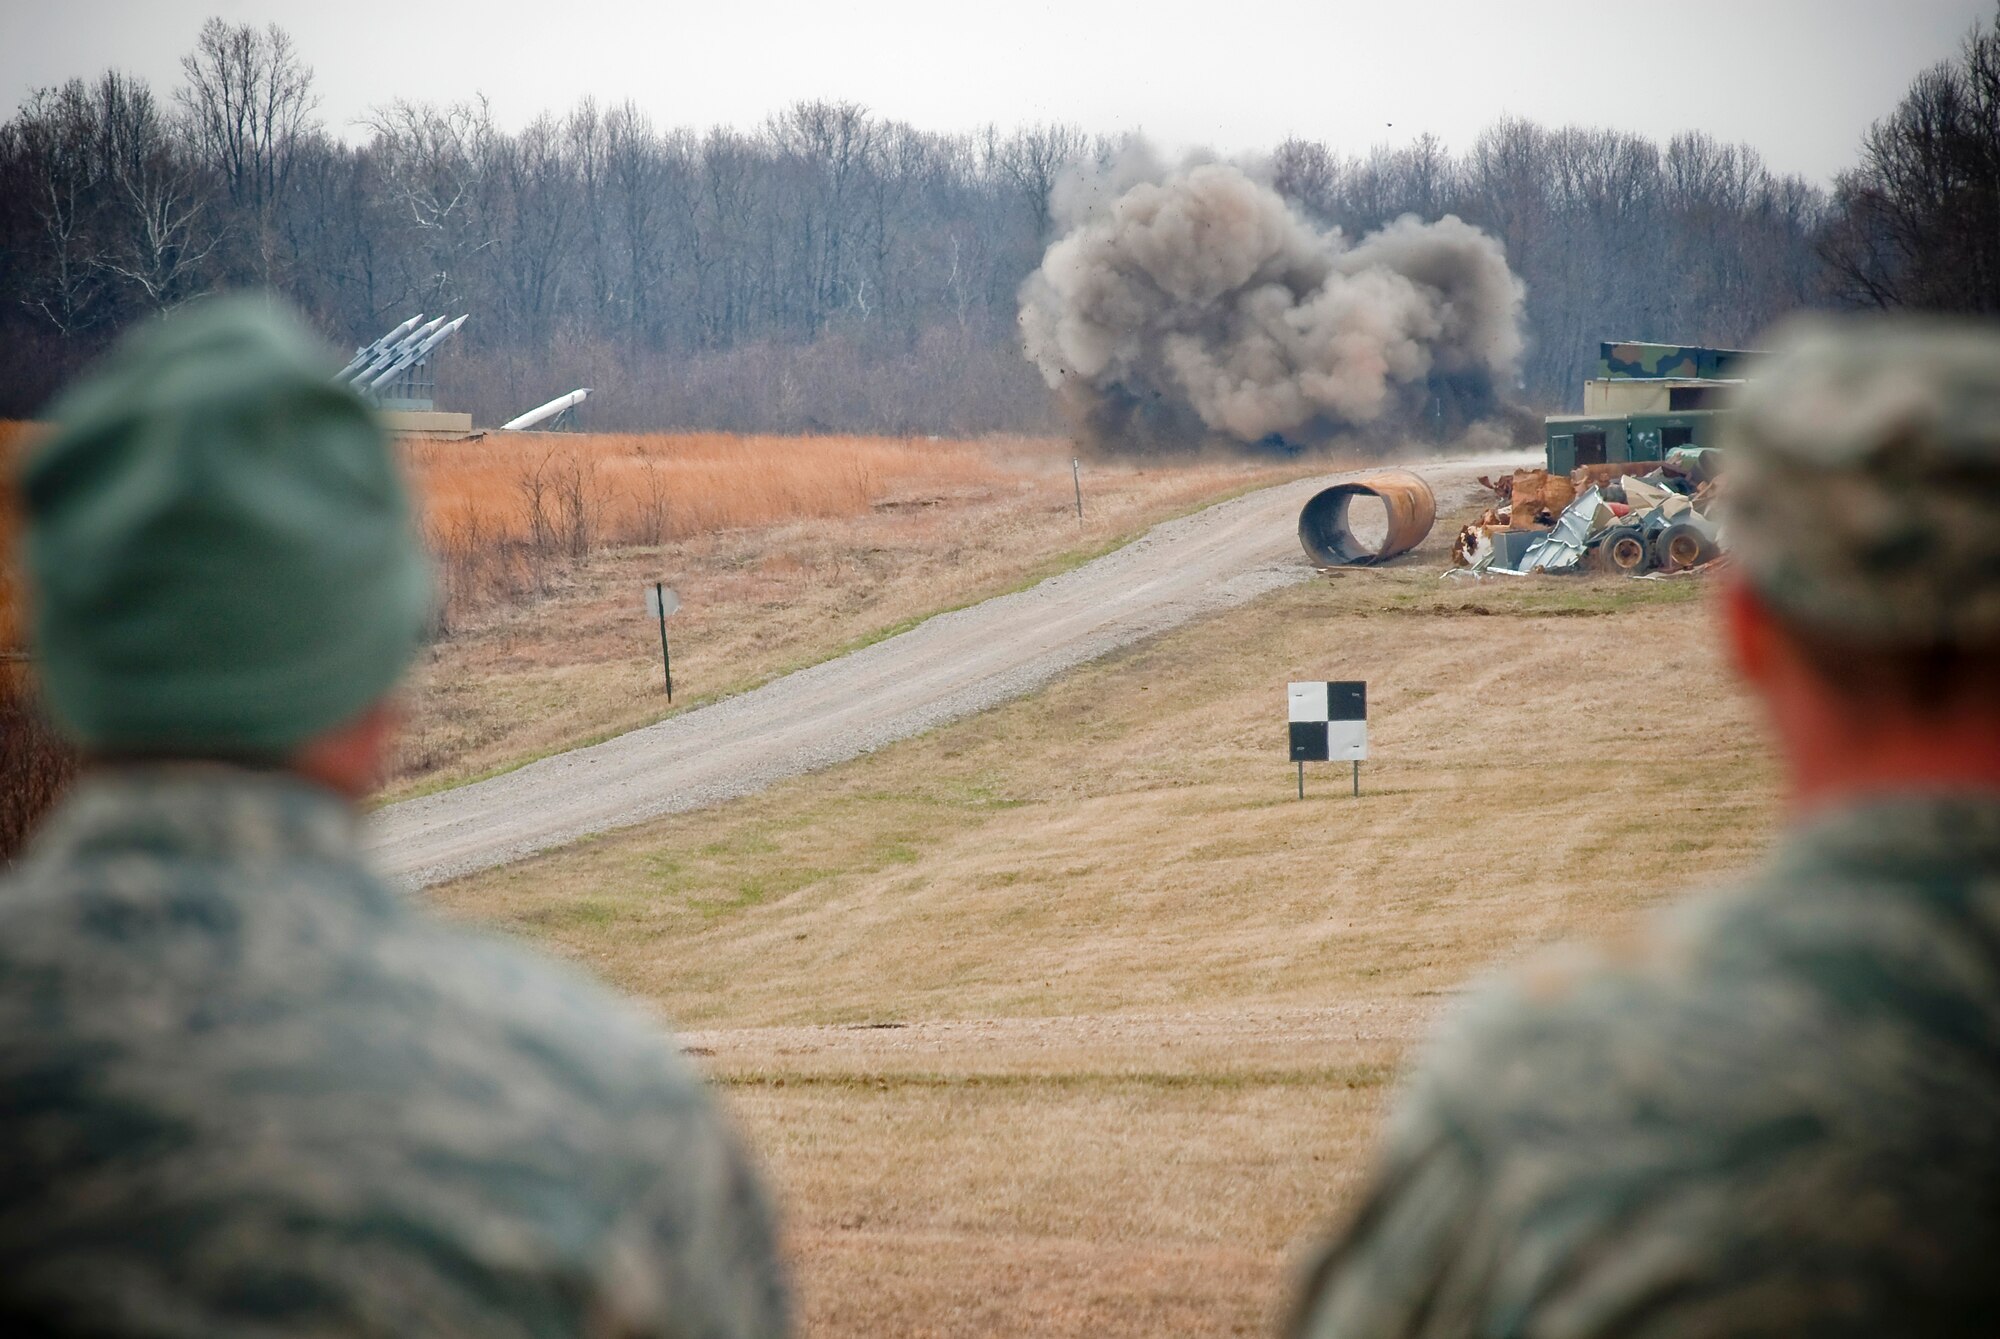
<svg viewBox="0 0 2000 1339"><path fill-rule="evenodd" d="M1436 1011L1770 831L1702 580L1442 582L1448 534L432 895L682 1029L806 1333L1268 1333ZM1296 799L1294 677L1370 681L1360 799Z"/></svg>

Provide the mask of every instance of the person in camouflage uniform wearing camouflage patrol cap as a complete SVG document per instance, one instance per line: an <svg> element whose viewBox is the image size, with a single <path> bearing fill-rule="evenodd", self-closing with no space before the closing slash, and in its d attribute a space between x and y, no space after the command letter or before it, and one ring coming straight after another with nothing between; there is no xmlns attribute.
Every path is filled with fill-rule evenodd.
<svg viewBox="0 0 2000 1339"><path fill-rule="evenodd" d="M1734 432L1788 831L1474 993L1298 1335L2000 1331L2000 336L1798 328Z"/></svg>

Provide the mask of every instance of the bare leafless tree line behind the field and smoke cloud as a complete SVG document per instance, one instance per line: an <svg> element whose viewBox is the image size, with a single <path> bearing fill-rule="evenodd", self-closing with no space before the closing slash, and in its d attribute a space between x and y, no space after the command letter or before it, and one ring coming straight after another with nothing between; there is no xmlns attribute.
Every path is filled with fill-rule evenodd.
<svg viewBox="0 0 2000 1339"><path fill-rule="evenodd" d="M1960 126L1954 162L1988 194L1944 206L1964 214L1954 256L2000 270L1996 66L1976 34L1832 198L1704 134L1524 120L1456 154L1430 136L1360 156L1290 140L1266 170L1350 236L1406 212L1500 236L1528 284L1522 392L1562 404L1602 338L1730 344L1800 306L1950 306L1920 278L1912 218L1942 196L1906 122ZM222 20L182 74L166 98L118 72L72 80L0 126L0 338L18 350L0 416L32 414L134 320L268 286L348 344L472 312L440 386L484 422L594 386L602 428L1048 428L1016 292L1062 174L1118 148L1074 126L936 134L824 100L754 132L584 100L512 134L480 102L398 100L346 144L316 120L290 38Z"/></svg>

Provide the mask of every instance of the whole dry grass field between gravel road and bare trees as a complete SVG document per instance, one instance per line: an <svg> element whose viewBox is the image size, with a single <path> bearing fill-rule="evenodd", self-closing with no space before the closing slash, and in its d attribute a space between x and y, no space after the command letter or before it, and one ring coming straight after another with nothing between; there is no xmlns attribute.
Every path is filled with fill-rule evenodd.
<svg viewBox="0 0 2000 1339"><path fill-rule="evenodd" d="M450 612L386 797L664 715L650 582L684 602L668 632L686 709L1332 468L1086 462L1078 522L1068 446L1048 440L520 434L404 452Z"/></svg>

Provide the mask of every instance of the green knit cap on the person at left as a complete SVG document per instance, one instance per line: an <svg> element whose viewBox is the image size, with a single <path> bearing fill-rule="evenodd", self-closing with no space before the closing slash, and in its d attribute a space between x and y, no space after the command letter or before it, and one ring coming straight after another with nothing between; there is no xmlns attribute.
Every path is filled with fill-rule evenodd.
<svg viewBox="0 0 2000 1339"><path fill-rule="evenodd" d="M28 462L42 695L96 753L282 759L402 675L430 566L388 438L278 304L148 324Z"/></svg>

